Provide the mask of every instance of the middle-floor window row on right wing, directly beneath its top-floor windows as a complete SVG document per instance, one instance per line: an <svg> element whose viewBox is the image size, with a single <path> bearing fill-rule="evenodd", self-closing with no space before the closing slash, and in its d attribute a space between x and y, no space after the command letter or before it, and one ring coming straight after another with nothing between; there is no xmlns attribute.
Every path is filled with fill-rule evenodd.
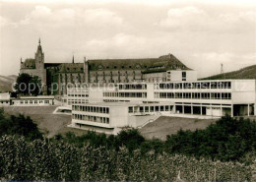
<svg viewBox="0 0 256 182"><path fill-rule="evenodd" d="M155 92L155 98L231 99L230 92Z"/></svg>

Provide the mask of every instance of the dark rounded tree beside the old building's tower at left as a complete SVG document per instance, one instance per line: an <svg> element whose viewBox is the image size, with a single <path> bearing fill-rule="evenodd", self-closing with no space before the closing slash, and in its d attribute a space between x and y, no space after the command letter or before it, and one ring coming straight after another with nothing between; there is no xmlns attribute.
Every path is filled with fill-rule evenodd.
<svg viewBox="0 0 256 182"><path fill-rule="evenodd" d="M30 76L29 74L23 73L17 78L15 89L21 94L38 95L41 94L42 85L37 76Z"/></svg>

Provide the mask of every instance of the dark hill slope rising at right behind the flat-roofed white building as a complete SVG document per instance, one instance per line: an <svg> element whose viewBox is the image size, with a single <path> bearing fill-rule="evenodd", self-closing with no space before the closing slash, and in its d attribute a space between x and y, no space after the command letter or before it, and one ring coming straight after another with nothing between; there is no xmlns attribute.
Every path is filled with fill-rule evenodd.
<svg viewBox="0 0 256 182"><path fill-rule="evenodd" d="M223 79L256 79L256 65L248 66L237 71L227 72L224 75L214 75L200 80L223 80Z"/></svg>

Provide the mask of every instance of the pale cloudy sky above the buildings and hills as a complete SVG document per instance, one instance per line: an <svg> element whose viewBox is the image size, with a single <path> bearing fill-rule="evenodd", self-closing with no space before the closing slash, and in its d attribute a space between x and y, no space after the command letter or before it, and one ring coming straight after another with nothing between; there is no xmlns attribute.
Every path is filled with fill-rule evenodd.
<svg viewBox="0 0 256 182"><path fill-rule="evenodd" d="M0 75L39 37L46 63L171 53L202 78L256 64L256 1L0 0Z"/></svg>

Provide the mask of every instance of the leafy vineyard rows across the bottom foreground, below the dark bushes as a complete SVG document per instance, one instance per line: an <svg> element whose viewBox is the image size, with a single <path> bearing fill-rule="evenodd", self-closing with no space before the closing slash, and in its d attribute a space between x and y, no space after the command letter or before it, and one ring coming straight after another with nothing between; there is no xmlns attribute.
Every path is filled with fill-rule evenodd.
<svg viewBox="0 0 256 182"><path fill-rule="evenodd" d="M0 138L0 179L250 181L251 168L178 154L143 153L126 148L78 148L43 140Z"/></svg>

